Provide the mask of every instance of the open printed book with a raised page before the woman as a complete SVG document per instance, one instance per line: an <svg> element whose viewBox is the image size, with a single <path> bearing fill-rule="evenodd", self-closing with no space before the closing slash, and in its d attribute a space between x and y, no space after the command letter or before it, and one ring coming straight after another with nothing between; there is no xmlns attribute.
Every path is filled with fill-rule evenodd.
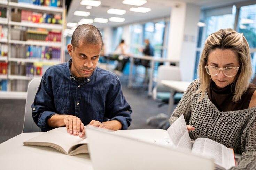
<svg viewBox="0 0 256 170"><path fill-rule="evenodd" d="M215 168L218 170L226 170L236 165L233 149L207 138L198 138L192 142L183 115L167 131L170 139L162 138L161 141L156 141L156 144L209 157L214 160Z"/></svg>

